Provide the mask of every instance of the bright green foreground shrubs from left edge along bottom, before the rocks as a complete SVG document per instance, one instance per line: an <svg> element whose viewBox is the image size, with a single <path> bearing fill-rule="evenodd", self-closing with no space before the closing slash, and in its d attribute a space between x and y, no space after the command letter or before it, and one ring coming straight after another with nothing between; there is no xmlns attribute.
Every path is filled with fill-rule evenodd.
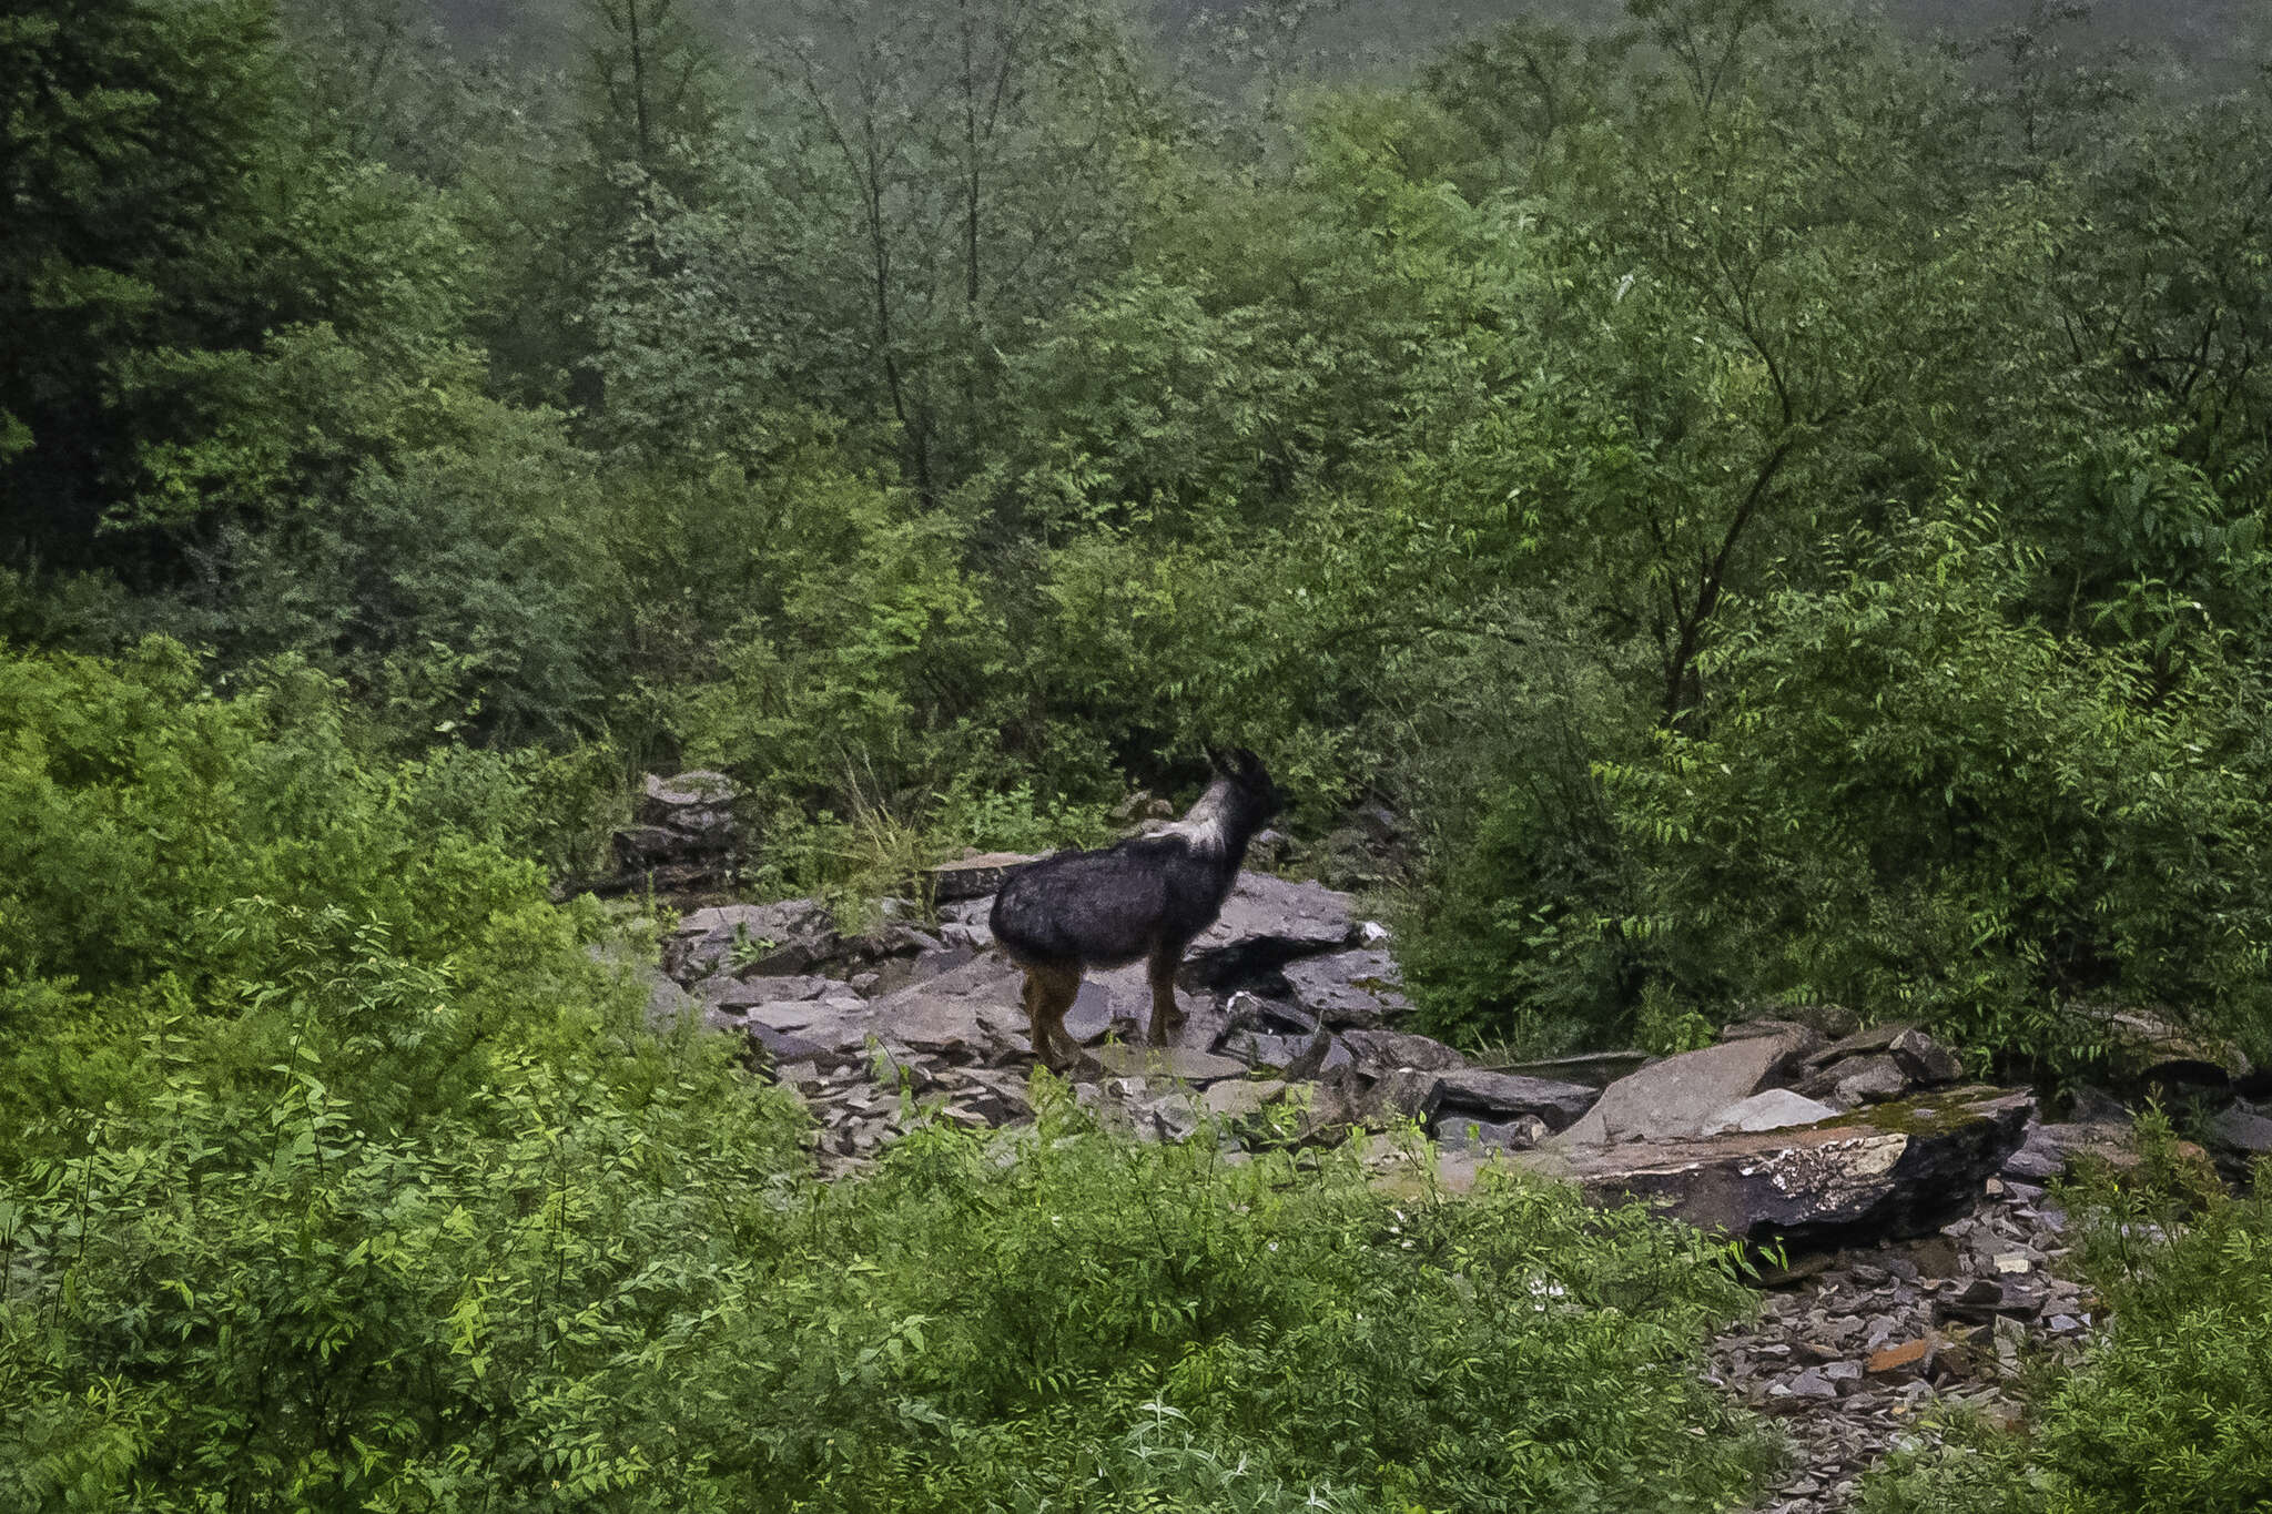
<svg viewBox="0 0 2272 1514"><path fill-rule="evenodd" d="M164 642L0 658L0 1507L1702 1509L1765 1455L1695 1233L1047 1080L813 1185L479 754Z"/></svg>

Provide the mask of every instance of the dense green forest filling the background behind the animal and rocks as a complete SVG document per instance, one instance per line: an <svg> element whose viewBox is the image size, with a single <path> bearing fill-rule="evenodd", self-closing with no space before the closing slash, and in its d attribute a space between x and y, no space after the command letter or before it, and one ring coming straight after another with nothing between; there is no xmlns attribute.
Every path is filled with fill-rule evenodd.
<svg viewBox="0 0 2272 1514"><path fill-rule="evenodd" d="M479 16L7 20L11 645L320 674L561 872L648 765L809 888L1245 740L1470 1040L2261 1042L2263 27Z"/></svg>

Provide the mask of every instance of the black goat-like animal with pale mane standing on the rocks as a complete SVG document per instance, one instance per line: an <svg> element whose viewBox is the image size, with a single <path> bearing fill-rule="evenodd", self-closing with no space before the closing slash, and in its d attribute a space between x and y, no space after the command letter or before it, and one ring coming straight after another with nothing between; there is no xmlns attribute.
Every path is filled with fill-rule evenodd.
<svg viewBox="0 0 2272 1514"><path fill-rule="evenodd" d="M1216 781L1184 819L1106 851L1059 851L1029 863L995 894L993 933L1025 967L1034 1055L1050 1067L1081 1055L1066 1035L1066 1010L1088 967L1141 958L1152 981L1152 1044L1166 1046L1181 1028L1175 969L1184 949L1216 924L1247 842L1279 810L1277 788L1252 751L1211 751L1209 760Z"/></svg>

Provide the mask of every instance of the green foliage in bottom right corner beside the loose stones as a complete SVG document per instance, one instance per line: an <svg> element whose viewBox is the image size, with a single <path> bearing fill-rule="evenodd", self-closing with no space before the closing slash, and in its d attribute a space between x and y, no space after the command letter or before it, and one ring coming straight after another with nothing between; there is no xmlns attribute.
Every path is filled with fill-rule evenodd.
<svg viewBox="0 0 2272 1514"><path fill-rule="evenodd" d="M1863 1484L1868 1514L2240 1514L2272 1487L2272 1198L2190 1169L2167 1126L2147 1171L2079 1194L2083 1278L2108 1328L2040 1385L2024 1435L1956 1425Z"/></svg>

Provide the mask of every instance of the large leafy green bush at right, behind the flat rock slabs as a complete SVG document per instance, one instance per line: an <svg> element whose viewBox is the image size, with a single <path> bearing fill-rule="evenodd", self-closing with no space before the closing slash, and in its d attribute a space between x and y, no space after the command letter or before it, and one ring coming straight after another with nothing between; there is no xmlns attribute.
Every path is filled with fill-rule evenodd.
<svg viewBox="0 0 2272 1514"><path fill-rule="evenodd" d="M2261 1046L2261 692L2215 629L2154 661L2013 620L1986 536L1927 527L1752 606L1711 724L1609 774L1624 928L1702 1001L1922 1015L2022 1071L2104 1053L2083 1001Z"/></svg>

